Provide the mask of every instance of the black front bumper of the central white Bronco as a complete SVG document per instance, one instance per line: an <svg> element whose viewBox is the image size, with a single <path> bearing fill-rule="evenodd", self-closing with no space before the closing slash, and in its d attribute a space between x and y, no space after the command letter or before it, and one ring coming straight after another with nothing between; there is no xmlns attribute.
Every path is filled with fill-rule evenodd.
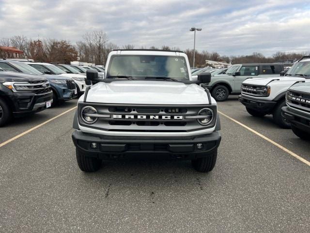
<svg viewBox="0 0 310 233"><path fill-rule="evenodd" d="M218 132L195 137L115 137L83 133L76 130L72 134L74 145L91 157L100 159L144 158L164 156L165 158L195 159L207 157L217 150L221 141ZM97 143L92 149L91 143ZM197 148L202 144L202 149Z"/></svg>

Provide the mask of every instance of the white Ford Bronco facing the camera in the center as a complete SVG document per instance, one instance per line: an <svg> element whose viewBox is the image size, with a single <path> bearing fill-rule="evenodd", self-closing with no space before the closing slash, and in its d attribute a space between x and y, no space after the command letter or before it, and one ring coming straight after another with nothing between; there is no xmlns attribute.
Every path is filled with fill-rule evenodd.
<svg viewBox="0 0 310 233"><path fill-rule="evenodd" d="M95 70L78 100L72 135L78 166L92 172L102 160L169 158L213 169L221 136L217 103L207 89L211 74L192 81L182 51L113 50L105 79Z"/></svg>

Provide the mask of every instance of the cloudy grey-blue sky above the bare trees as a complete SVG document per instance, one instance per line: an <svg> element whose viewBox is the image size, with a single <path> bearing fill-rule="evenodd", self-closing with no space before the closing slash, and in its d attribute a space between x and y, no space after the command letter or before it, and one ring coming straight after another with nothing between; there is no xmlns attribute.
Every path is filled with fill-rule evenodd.
<svg viewBox="0 0 310 233"><path fill-rule="evenodd" d="M310 0L0 0L0 37L71 42L103 29L109 41L221 55L310 51Z"/></svg>

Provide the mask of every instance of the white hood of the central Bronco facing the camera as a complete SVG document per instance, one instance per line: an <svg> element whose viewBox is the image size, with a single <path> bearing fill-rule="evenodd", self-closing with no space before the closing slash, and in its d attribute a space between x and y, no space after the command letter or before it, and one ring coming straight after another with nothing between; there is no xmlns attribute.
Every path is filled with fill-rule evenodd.
<svg viewBox="0 0 310 233"><path fill-rule="evenodd" d="M184 83L167 81L117 81L112 83L97 83L88 91L86 101L120 104L209 103L207 93L199 85L186 85ZM213 98L212 102L215 103Z"/></svg>

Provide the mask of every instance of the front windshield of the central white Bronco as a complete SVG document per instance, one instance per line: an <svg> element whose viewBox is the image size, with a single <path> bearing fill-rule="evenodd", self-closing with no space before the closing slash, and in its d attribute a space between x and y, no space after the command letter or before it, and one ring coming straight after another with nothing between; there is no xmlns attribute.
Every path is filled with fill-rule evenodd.
<svg viewBox="0 0 310 233"><path fill-rule="evenodd" d="M110 58L108 76L168 77L189 80L186 59L181 56L162 55L113 55Z"/></svg>

